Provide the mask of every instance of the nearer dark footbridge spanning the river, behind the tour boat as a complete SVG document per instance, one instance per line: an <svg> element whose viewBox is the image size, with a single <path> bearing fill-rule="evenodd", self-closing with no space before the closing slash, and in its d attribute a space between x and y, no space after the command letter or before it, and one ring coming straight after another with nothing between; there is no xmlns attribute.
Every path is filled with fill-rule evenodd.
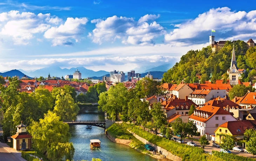
<svg viewBox="0 0 256 161"><path fill-rule="evenodd" d="M106 120L64 120L63 123L67 123L68 125L92 125L106 128Z"/></svg>

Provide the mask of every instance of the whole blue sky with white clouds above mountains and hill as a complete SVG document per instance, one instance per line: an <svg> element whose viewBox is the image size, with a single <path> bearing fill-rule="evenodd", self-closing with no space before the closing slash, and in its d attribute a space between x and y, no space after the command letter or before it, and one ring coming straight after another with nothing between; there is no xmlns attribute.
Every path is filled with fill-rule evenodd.
<svg viewBox="0 0 256 161"><path fill-rule="evenodd" d="M84 66L94 71L174 64L215 41L256 40L248 2L0 1L0 71Z"/></svg>

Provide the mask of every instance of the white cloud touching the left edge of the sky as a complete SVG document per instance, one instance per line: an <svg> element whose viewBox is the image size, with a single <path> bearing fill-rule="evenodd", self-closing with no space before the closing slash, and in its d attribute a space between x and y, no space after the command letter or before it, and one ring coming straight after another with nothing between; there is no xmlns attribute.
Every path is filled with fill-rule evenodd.
<svg viewBox="0 0 256 161"><path fill-rule="evenodd" d="M12 10L0 14L0 34L11 36L14 44L28 44L28 40L34 38L34 34L43 33L50 28L49 23L57 23L58 17L50 14L38 15L31 12ZM52 22L49 22L52 21Z"/></svg>

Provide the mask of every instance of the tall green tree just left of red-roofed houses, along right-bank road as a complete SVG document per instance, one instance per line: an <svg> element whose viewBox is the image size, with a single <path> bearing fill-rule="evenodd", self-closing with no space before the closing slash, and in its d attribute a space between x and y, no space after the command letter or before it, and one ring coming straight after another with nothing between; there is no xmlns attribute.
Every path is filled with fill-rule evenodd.
<svg viewBox="0 0 256 161"><path fill-rule="evenodd" d="M157 134L157 130L162 125L167 125L166 117L162 111L162 105L160 103L153 103L152 109L150 110L150 114L152 115L152 123Z"/></svg>

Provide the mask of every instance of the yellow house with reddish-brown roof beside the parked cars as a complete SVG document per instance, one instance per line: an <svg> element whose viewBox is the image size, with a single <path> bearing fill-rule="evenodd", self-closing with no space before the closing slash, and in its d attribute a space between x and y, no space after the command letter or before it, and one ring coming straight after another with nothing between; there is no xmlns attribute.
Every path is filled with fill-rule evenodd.
<svg viewBox="0 0 256 161"><path fill-rule="evenodd" d="M244 138L247 129L256 129L256 120L227 121L215 130L215 141L221 143L221 136L217 134L228 134L235 138L236 142Z"/></svg>

